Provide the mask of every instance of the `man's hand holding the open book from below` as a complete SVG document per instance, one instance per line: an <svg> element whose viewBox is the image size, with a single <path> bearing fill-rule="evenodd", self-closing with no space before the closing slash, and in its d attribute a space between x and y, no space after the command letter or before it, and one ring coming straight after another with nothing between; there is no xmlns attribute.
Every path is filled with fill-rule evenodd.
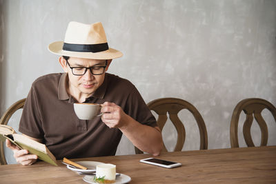
<svg viewBox="0 0 276 184"><path fill-rule="evenodd" d="M12 150L14 159L21 165L32 165L32 163L37 161L37 155L29 154L28 150L20 150L17 145L14 145L8 139L6 139L6 146Z"/></svg>

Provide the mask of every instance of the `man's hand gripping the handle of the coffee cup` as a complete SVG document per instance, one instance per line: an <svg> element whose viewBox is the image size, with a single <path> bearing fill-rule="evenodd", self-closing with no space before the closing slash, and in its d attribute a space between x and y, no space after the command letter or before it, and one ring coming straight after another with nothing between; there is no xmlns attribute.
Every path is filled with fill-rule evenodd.
<svg viewBox="0 0 276 184"><path fill-rule="evenodd" d="M103 103L101 112L104 113L101 120L110 128L123 127L128 123L128 115L115 103Z"/></svg>

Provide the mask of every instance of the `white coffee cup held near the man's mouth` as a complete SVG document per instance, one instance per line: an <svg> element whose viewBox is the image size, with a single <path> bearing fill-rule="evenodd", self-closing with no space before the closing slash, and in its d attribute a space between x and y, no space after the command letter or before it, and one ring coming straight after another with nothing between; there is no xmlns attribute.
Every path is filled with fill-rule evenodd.
<svg viewBox="0 0 276 184"><path fill-rule="evenodd" d="M101 105L98 103L74 103L74 110L79 119L89 120L101 116Z"/></svg>

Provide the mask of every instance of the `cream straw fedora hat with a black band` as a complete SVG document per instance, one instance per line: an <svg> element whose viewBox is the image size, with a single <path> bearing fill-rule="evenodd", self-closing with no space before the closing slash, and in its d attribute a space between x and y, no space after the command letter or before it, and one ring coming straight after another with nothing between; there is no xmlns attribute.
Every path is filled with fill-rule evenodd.
<svg viewBox="0 0 276 184"><path fill-rule="evenodd" d="M100 22L91 25L70 22L64 41L50 43L48 50L60 56L86 59L115 59L123 56L119 50L108 47L106 33Z"/></svg>

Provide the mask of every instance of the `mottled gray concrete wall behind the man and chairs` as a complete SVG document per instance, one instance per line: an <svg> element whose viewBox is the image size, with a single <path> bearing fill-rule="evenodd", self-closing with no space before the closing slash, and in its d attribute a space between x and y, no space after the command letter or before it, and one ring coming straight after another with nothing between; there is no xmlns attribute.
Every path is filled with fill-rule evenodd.
<svg viewBox="0 0 276 184"><path fill-rule="evenodd" d="M193 103L206 123L209 149L230 147L230 118L240 100L259 97L276 105L276 1L0 3L1 114L27 96L34 79L62 72L47 47L63 40L69 21L103 23L110 47L124 53L109 72L132 81L147 103L161 97ZM275 145L276 123L268 111L263 114L268 145ZM180 116L187 123L184 150L198 150L193 117L185 110ZM17 127L18 119L10 125ZM258 145L256 122L252 132ZM172 125L166 125L164 137L172 150L177 137ZM117 154L134 154L132 144L124 138Z"/></svg>

